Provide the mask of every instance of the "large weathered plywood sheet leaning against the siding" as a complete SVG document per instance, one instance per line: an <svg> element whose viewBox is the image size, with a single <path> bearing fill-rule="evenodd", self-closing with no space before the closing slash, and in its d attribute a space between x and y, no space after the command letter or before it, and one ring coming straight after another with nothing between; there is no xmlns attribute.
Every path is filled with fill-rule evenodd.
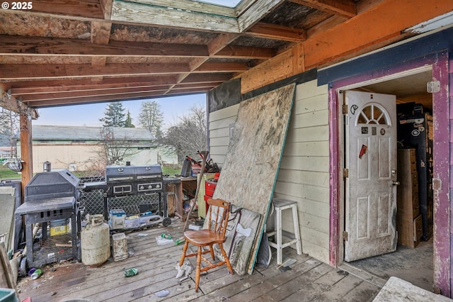
<svg viewBox="0 0 453 302"><path fill-rule="evenodd" d="M294 84L241 102L214 198L261 215L251 257L251 274L273 196L292 101Z"/></svg>

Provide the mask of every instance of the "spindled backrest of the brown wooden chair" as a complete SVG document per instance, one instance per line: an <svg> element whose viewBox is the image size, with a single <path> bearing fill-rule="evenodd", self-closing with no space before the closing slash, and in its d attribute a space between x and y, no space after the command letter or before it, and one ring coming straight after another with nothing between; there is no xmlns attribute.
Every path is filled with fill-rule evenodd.
<svg viewBox="0 0 453 302"><path fill-rule="evenodd" d="M209 198L207 200L207 204L210 205L206 216L208 230L221 233L222 237L224 237L231 209L230 203L228 201L224 201L223 199Z"/></svg>

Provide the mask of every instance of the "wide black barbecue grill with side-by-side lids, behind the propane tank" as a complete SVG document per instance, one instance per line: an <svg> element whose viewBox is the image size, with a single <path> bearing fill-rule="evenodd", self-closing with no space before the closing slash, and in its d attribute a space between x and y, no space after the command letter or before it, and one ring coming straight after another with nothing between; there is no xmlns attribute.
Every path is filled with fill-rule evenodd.
<svg viewBox="0 0 453 302"><path fill-rule="evenodd" d="M157 194L159 216L153 217L154 222L170 225L170 218L166 218L167 205L162 202L162 194L164 193L163 181L162 168L159 164L151 164L149 166L107 166L105 169L105 181L87 182L84 184L83 190L86 192L102 190L104 192L105 217L108 217L109 211L108 198ZM145 211L149 210L145 209Z"/></svg>

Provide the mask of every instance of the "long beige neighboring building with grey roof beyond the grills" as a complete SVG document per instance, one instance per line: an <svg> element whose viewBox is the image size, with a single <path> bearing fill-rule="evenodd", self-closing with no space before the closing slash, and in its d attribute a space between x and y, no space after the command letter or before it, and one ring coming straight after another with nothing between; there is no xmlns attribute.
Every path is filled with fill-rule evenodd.
<svg viewBox="0 0 453 302"><path fill-rule="evenodd" d="M130 156L118 164L176 163L176 155L168 155L168 152L158 147L149 130L112 129L115 138L125 140L125 145L130 147ZM103 127L33 125L33 172L41 172L46 161L51 162L52 168L71 171L100 168L101 130ZM20 142L18 144L20 154Z"/></svg>

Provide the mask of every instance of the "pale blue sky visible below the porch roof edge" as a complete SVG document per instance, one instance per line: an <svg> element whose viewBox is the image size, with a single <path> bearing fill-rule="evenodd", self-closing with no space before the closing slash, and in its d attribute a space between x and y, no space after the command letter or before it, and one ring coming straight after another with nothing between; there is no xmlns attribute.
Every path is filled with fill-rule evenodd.
<svg viewBox="0 0 453 302"><path fill-rule="evenodd" d="M142 99L138 101L122 101L125 113L130 111L132 123L139 127L139 112L145 101L156 101L164 113L164 129L178 122L182 116L190 114L193 106L206 110L206 94L192 94L188 96L168 96L159 99ZM108 103L61 106L53 108L40 108L40 117L32 121L32 125L76 125L99 127L102 126L100 118L105 116Z"/></svg>

